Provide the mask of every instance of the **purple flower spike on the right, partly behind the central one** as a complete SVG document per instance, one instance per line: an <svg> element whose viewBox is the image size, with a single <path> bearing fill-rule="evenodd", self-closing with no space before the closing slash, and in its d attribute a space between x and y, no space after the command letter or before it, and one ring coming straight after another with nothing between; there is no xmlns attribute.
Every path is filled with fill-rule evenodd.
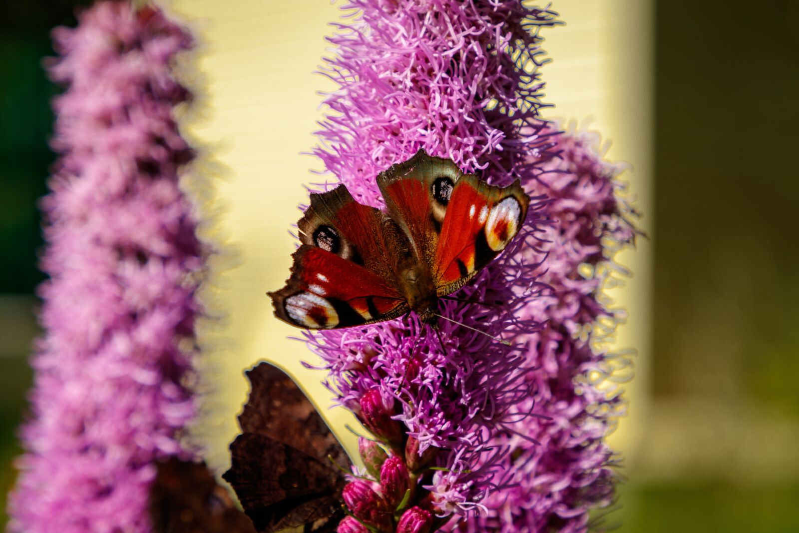
<svg viewBox="0 0 799 533"><path fill-rule="evenodd" d="M535 384L527 403L551 420L523 420L516 428L540 444L510 434L495 438L513 448L503 458L511 487L484 501L487 513L471 516L462 531L586 531L588 511L614 495L604 438L624 406L616 391L597 387L619 366L617 356L597 349L607 333L598 321L613 323L602 288L616 268L614 253L636 231L617 197L622 165L602 161L594 135L564 133L557 141L561 157L546 165L536 189L552 198L541 278L549 289L520 313L548 319L524 338L527 364L535 368L526 377ZM528 257L536 261L534 252Z"/></svg>

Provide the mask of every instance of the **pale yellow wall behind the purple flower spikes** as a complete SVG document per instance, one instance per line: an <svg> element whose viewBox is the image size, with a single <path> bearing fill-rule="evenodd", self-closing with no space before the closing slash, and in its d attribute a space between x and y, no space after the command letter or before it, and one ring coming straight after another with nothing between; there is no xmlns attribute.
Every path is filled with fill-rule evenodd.
<svg viewBox="0 0 799 533"><path fill-rule="evenodd" d="M209 462L218 469L227 466L227 445L237 434L235 415L247 392L243 370L263 359L296 376L352 446L352 435L341 431L352 416L324 409L332 396L319 384L324 375L300 365L300 360L315 363L316 356L287 338L299 330L272 316L264 294L280 288L288 276L294 249L288 229L300 217L297 205L308 199L302 185L317 179L308 169L320 168L300 152L315 144L312 131L323 113L317 91L332 89L313 71L326 54L324 36L332 32L328 22L339 16L338 7L320 0L173 0L166 7L199 37L201 117L189 122L188 133L213 150L222 167L203 170L216 187L217 225L208 235L225 241L206 294L211 311L224 309L225 316L207 320L201 330L210 400L198 432L209 443ZM567 24L543 33L543 46L555 60L543 70L546 100L556 104L547 116L577 119L612 140L608 157L634 165L625 177L636 205L647 214L646 228L651 220L650 2L564 0L554 8ZM627 386L630 416L613 438L633 460L640 439L635 420L645 417L647 405L648 243L620 260L635 276L613 295L630 314L617 345L638 348L638 356L636 380Z"/></svg>

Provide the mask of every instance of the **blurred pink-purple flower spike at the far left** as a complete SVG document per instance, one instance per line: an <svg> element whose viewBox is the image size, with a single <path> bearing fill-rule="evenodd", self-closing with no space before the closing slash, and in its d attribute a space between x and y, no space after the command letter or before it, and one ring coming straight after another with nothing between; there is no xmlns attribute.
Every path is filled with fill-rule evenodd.
<svg viewBox="0 0 799 533"><path fill-rule="evenodd" d="M103 2L54 39L62 153L43 202L50 280L41 287L33 419L10 499L11 531L150 531L153 459L189 455L185 383L203 268L178 186L192 150L170 65L189 35L151 7Z"/></svg>

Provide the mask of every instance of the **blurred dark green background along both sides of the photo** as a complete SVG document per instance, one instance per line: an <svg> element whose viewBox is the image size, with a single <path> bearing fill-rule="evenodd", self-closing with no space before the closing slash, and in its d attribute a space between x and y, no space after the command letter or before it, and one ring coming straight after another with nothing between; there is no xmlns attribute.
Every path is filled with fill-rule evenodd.
<svg viewBox="0 0 799 533"><path fill-rule="evenodd" d="M30 386L36 205L53 161L58 89L41 60L77 3L4 2L0 18L0 509ZM654 423L606 520L799 531L799 2L675 8L657 2L654 26Z"/></svg>

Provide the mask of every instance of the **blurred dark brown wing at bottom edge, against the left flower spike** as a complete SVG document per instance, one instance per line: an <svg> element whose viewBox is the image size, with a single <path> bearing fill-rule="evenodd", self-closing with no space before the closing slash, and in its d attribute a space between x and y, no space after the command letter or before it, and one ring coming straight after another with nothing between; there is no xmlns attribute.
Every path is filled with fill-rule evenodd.
<svg viewBox="0 0 799 533"><path fill-rule="evenodd" d="M255 533L205 463L172 457L157 468L149 494L155 533Z"/></svg>

